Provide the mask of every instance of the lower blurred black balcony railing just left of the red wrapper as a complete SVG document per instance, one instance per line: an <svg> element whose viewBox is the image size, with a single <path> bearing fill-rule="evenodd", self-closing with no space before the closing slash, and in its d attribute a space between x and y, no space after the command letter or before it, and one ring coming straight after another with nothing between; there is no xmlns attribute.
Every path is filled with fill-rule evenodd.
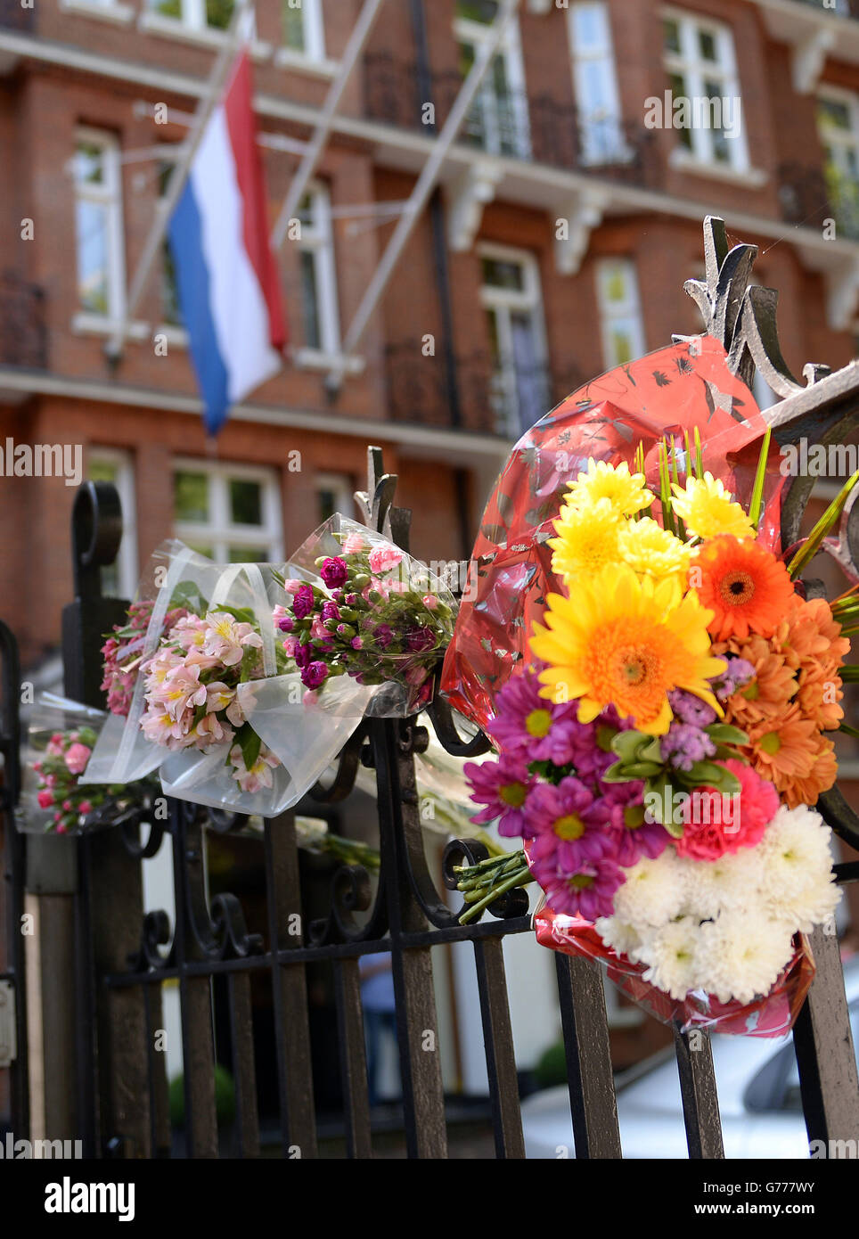
<svg viewBox="0 0 859 1239"><path fill-rule="evenodd" d="M458 356L454 364L460 419L454 425L444 358L423 357L420 339L389 344L385 354L387 409L394 421L504 439L519 439L584 383L574 366L552 370L547 363L516 366L512 358L498 366L488 352Z"/></svg>

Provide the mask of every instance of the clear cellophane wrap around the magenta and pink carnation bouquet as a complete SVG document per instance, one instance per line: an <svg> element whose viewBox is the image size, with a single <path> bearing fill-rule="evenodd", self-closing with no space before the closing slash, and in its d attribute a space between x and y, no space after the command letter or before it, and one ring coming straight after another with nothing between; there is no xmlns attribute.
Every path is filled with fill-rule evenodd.
<svg viewBox="0 0 859 1239"><path fill-rule="evenodd" d="M342 558L344 554L343 543L350 534L361 538L370 551L376 548L394 546L390 538L385 538L384 534L376 533L366 525L361 525L356 520L352 520L349 517L335 512L292 555L288 565L288 575L295 576L297 580L307 581L307 584L316 586L323 593L329 593L330 591L319 576L316 561L321 556ZM434 595L448 608L451 618L443 623L443 636L438 637L432 647L420 653L405 652L391 654L390 647L374 644L371 631L365 632L361 629L363 652L373 657L380 674L386 676L386 683L384 684L365 685L371 689L371 694L366 700L365 714L374 719L405 719L416 714L428 703L432 696L434 679L432 664L442 659L453 633L453 623L457 613L455 600L447 585L436 574L431 572L421 560L406 554L399 546L394 546L394 550L402 558L390 571L380 572L380 579L387 586L396 587L404 585L415 593ZM322 657L324 658L324 655ZM410 680L416 679L422 668L427 669L426 679L417 684L410 683ZM318 694L321 701L332 690L334 683L335 679L330 676L326 680Z"/></svg>

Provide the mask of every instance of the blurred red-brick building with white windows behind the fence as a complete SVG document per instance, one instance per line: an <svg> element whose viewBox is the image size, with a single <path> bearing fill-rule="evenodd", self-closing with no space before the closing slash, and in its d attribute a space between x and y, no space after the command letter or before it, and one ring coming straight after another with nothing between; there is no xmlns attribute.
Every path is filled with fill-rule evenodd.
<svg viewBox="0 0 859 1239"><path fill-rule="evenodd" d="M760 247L755 276L780 291L795 373L854 356L858 0L521 0L344 361L345 327L498 7L386 0L278 254L288 363L207 441L166 249L121 359L104 346L231 0L0 0L0 445L79 444L84 476L116 483L125 535L108 591L130 596L170 535L222 563L285 558L350 512L368 442L415 512L413 551L467 558L524 429L589 378L701 330L682 286L703 274L707 213ZM272 223L359 11L256 2ZM739 134L649 128L647 100L666 90L739 99ZM755 394L772 400L765 384ZM0 484L0 598L25 668L58 647L73 494L62 478ZM859 763L844 756L849 779ZM637 1014L618 1022L635 1032ZM520 1030L526 1057L551 1035ZM459 1051L460 1079L478 1051Z"/></svg>

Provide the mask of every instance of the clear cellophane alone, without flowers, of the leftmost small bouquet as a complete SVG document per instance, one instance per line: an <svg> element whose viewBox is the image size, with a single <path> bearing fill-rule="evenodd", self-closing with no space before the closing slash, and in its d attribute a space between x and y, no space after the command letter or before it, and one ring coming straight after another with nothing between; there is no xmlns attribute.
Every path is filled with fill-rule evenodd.
<svg viewBox="0 0 859 1239"><path fill-rule="evenodd" d="M27 741L21 753L21 797L15 810L15 825L26 834L46 834L53 829L56 808L43 809L38 803L40 776L33 769L33 762L43 761L48 741L53 735L80 731L88 727L100 735L110 715L104 710L82 705L69 698L54 693L40 693L33 704L27 722ZM92 762L92 755L89 761ZM88 762L89 766L89 762ZM84 783L78 776L78 787ZM144 802L145 792L139 783L131 783L114 799ZM74 826L67 826L64 834L77 835L109 825L103 813L84 814Z"/></svg>

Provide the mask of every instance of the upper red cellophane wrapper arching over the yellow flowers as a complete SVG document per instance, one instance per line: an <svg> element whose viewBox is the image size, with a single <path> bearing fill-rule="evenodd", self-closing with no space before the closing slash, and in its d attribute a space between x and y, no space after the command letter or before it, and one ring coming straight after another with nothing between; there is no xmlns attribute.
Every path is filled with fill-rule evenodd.
<svg viewBox="0 0 859 1239"><path fill-rule="evenodd" d="M477 574L473 569L441 678L442 693L467 719L485 727L493 717L499 689L529 662L529 636L542 620L546 595L559 592L547 543L568 483L587 471L589 457L634 468L641 442L647 483L658 492L661 440L668 436L682 451L684 434L693 442L696 427L704 468L748 502L766 424L709 336L594 379L519 440L483 515L472 553ZM780 550L783 481L772 444L759 535L769 549Z"/></svg>

